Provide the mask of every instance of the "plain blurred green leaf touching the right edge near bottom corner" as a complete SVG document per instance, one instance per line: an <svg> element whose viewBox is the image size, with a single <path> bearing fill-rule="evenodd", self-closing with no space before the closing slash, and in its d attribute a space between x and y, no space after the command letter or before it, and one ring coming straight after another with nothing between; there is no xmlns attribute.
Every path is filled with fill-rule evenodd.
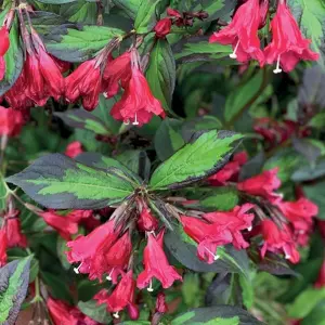
<svg viewBox="0 0 325 325"><path fill-rule="evenodd" d="M322 300L325 300L325 288L308 288L289 304L288 315L291 318L304 318Z"/></svg>

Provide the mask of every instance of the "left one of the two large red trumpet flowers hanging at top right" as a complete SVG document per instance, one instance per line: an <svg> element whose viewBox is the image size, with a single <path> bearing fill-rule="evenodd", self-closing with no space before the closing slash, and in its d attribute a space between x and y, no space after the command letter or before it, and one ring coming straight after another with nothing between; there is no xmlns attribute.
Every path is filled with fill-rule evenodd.
<svg viewBox="0 0 325 325"><path fill-rule="evenodd" d="M232 44L234 53L230 57L237 58L239 62L255 58L259 61L262 67L265 60L258 37L260 23L259 0L248 0L239 6L232 22L221 31L214 32L209 41Z"/></svg>

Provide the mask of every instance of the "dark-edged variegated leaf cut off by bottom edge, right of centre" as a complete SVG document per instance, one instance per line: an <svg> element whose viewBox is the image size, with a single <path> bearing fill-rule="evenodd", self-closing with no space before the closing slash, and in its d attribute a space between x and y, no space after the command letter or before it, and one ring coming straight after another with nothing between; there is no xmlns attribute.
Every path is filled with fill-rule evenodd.
<svg viewBox="0 0 325 325"><path fill-rule="evenodd" d="M171 321L171 325L259 325L262 324L244 309L234 306L216 306L192 309Z"/></svg>

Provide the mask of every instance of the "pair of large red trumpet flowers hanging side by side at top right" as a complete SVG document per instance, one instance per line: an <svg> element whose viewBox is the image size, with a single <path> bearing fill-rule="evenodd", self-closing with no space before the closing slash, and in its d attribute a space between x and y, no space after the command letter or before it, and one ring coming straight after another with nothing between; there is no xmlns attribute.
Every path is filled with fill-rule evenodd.
<svg viewBox="0 0 325 325"><path fill-rule="evenodd" d="M276 14L271 22L272 42L262 51L258 30L263 26L268 3L248 0L236 11L232 22L210 37L210 42L232 44L230 55L238 62L257 60L262 67L276 62L274 74L292 70L300 60L316 61L320 57L309 49L311 40L303 38L298 24L285 0L278 1ZM247 18L249 17L249 18Z"/></svg>

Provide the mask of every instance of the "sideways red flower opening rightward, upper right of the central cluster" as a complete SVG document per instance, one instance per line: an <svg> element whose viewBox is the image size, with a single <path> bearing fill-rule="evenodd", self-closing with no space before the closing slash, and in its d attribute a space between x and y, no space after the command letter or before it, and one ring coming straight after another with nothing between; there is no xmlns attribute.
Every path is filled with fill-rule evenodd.
<svg viewBox="0 0 325 325"><path fill-rule="evenodd" d="M249 246L244 240L240 233L243 230L251 230L251 222L255 218L253 213L246 213L253 207L251 204L245 204L242 207L236 206L229 212L210 212L205 213L204 218L218 226L227 230L232 234L232 243L235 248L242 249Z"/></svg>

